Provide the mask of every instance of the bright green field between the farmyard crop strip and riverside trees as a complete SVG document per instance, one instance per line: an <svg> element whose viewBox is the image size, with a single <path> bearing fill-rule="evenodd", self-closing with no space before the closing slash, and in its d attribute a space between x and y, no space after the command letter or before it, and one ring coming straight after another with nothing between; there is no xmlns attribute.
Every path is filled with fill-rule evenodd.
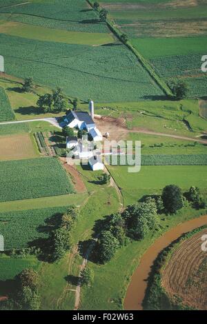
<svg viewBox="0 0 207 324"><path fill-rule="evenodd" d="M179 185L182 190L188 190L191 185L207 190L205 165L144 165L137 173L128 173L126 165L108 169L121 188L125 205L134 203L144 194L159 194L170 183Z"/></svg>

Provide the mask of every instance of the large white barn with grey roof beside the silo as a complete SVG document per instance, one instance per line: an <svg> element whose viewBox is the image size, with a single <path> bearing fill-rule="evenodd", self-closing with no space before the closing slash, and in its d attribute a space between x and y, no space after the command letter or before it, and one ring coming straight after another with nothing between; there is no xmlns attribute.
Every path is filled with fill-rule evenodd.
<svg viewBox="0 0 207 324"><path fill-rule="evenodd" d="M90 117L88 112L74 112L71 111L66 114L65 123L70 128L79 128L79 130L89 131L91 128L95 128L95 122Z"/></svg>

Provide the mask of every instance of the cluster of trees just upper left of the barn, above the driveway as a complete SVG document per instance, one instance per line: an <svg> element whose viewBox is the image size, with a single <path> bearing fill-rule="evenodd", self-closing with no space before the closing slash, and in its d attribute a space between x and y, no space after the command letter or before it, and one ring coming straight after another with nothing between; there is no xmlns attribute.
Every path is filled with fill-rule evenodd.
<svg viewBox="0 0 207 324"><path fill-rule="evenodd" d="M46 93L37 100L37 107L43 112L62 112L69 108L68 100L63 96L61 88L52 90L52 94Z"/></svg>

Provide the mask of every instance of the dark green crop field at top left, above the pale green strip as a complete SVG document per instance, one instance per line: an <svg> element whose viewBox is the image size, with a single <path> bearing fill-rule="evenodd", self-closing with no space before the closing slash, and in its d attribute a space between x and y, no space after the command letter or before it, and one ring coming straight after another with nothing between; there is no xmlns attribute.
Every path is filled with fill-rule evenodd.
<svg viewBox="0 0 207 324"><path fill-rule="evenodd" d="M0 4L0 19L2 18L76 32L107 32L108 30L104 23L97 21L95 12L90 9L85 0L32 0L21 6L4 8Z"/></svg>

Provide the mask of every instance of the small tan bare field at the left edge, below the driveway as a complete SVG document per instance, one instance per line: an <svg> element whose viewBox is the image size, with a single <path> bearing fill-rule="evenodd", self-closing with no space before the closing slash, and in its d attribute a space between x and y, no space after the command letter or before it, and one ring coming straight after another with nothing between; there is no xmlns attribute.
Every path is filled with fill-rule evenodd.
<svg viewBox="0 0 207 324"><path fill-rule="evenodd" d="M0 160L20 160L38 157L29 134L0 136Z"/></svg>

